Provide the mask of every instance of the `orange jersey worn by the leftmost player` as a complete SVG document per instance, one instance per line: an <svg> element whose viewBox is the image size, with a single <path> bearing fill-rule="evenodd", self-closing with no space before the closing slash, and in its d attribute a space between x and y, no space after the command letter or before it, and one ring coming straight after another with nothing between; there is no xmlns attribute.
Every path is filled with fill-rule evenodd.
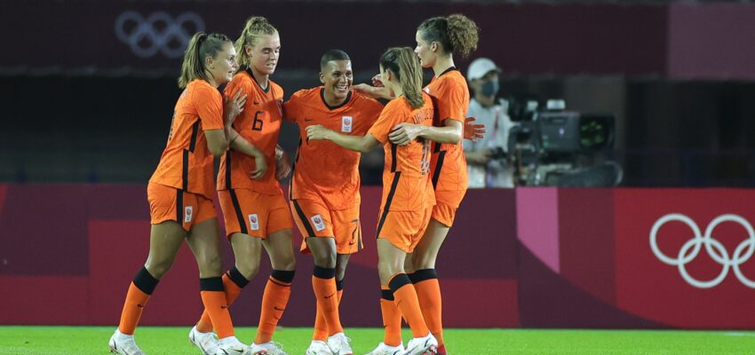
<svg viewBox="0 0 755 355"><path fill-rule="evenodd" d="M150 183L198 193L212 200L212 154L205 130L223 130L223 98L210 83L188 83L173 111L168 145Z"/></svg>

